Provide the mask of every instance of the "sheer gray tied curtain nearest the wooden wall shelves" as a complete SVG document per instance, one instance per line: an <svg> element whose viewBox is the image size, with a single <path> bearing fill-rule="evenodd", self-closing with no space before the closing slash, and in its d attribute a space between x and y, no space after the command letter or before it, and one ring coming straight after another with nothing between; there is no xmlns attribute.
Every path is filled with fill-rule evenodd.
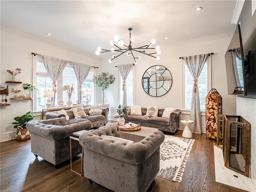
<svg viewBox="0 0 256 192"><path fill-rule="evenodd" d="M54 97L52 98L52 107L55 105L55 93L56 93L56 81L60 77L60 74L65 69L68 61L51 57L47 55L41 55L45 69L52 79Z"/></svg>

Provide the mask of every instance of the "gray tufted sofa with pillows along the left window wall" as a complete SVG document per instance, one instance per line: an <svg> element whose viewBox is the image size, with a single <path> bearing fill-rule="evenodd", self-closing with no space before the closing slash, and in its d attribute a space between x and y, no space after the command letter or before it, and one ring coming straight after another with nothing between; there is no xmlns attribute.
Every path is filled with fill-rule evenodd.
<svg viewBox="0 0 256 192"><path fill-rule="evenodd" d="M84 108L84 112L86 113L86 115L89 115L89 116L85 117L85 118L78 118L78 119L74 119L75 117L74 117L72 110L67 109L65 111L70 118L70 120L67 121L67 124L71 125L73 123L78 123L81 121L89 120L92 123L91 128L97 127L100 125L106 125L106 123L108 123L108 108L101 107L101 109L102 109L101 115L89 115L90 108ZM58 114L55 111L49 111L46 113L46 119L54 119L54 118L59 118L59 117L65 117L65 115Z"/></svg>

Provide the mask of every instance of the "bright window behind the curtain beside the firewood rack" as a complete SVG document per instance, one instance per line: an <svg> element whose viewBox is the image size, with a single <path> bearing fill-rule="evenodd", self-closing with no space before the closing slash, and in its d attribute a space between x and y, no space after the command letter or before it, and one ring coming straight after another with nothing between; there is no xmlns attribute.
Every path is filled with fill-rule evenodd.
<svg viewBox="0 0 256 192"><path fill-rule="evenodd" d="M208 90L210 89L210 61L204 64L202 72L198 78L198 92L200 98L200 110L205 111L205 97L208 94ZM191 108L191 99L192 99L192 91L193 91L193 77L188 70L186 64L184 64L184 109L190 110Z"/></svg>

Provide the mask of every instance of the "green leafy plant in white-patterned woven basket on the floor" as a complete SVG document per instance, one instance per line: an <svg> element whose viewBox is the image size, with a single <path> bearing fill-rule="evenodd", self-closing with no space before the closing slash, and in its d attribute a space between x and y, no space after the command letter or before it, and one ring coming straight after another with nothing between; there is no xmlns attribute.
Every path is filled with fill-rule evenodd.
<svg viewBox="0 0 256 192"><path fill-rule="evenodd" d="M14 128L17 129L15 139L23 141L31 138L31 135L26 128L28 121L34 119L34 117L30 113L31 111L28 111L25 115L22 115L21 117L14 117L14 120L16 122L12 124L14 124Z"/></svg>

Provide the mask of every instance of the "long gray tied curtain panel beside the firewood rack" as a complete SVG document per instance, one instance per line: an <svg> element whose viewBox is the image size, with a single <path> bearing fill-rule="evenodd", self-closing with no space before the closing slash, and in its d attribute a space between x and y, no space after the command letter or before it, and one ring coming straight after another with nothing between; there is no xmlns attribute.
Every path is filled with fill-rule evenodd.
<svg viewBox="0 0 256 192"><path fill-rule="evenodd" d="M194 87L192 91L191 109L190 109L190 119L194 121L194 123L190 125L190 129L192 133L198 133L198 134L202 134L202 126L201 126L200 100L199 100L197 79L204 67L204 63L206 62L207 55L208 54L183 57L194 79Z"/></svg>

